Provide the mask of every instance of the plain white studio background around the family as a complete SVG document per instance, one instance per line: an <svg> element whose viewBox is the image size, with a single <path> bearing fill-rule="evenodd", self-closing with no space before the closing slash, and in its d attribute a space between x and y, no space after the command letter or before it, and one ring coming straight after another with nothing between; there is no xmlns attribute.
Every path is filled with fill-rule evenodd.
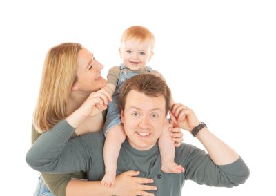
<svg viewBox="0 0 276 196"><path fill-rule="evenodd" d="M121 33L142 25L156 39L150 66L164 75L175 101L193 108L250 168L248 181L237 188L186 182L183 195L271 195L275 10L275 1L265 0L1 1L1 193L32 195L37 184L39 173L25 155L48 49L79 42L103 63L106 77L121 62ZM184 140L201 147L188 133Z"/></svg>

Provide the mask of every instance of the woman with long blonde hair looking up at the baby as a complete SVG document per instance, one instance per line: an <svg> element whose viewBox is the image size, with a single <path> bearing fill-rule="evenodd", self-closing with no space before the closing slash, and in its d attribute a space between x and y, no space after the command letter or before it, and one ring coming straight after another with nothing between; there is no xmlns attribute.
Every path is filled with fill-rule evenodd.
<svg viewBox="0 0 276 196"><path fill-rule="evenodd" d="M106 85L106 79L101 77L103 66L92 53L79 43L63 43L51 48L46 56L41 88L37 107L34 110L32 143L55 126L59 121L68 117L72 112L84 104L96 101L97 110L106 109L111 97L108 93L97 92ZM77 126L78 134L85 134L101 130L105 115L100 112L94 117L82 119ZM93 123L94 122L94 123ZM95 126L97 122L98 126ZM100 123L99 123L100 122ZM179 146L182 133L178 128L172 130L175 145ZM73 134L72 137L77 136ZM151 179L134 177L139 172L128 171L118 175L115 188L106 188L100 182L91 182L85 179L84 173L66 175L41 174L39 184L34 195L152 195L146 190L155 190L154 186L141 185L152 182ZM72 179L78 178L78 179ZM49 189L45 186L44 181ZM123 193L124 191L124 193Z"/></svg>

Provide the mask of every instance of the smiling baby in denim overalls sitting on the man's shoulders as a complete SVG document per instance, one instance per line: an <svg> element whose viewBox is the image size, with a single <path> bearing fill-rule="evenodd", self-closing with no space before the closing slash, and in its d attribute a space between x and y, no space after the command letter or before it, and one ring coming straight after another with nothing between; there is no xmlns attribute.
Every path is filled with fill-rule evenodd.
<svg viewBox="0 0 276 196"><path fill-rule="evenodd" d="M103 132L106 141L103 147L103 159L106 174L101 180L101 185L115 187L117 159L121 144L126 139L124 127L121 124L121 110L119 106L119 92L124 81L138 74L154 74L162 77L159 72L152 70L146 63L153 55L155 37L143 26L127 28L121 37L119 53L123 63L114 66L108 71L108 80L103 90L112 95L112 102L108 103L108 114ZM163 77L162 77L163 78ZM146 137L144 133L139 137ZM158 141L161 153L161 170L165 173L181 173L184 168L175 163L175 146L168 130L164 130Z"/></svg>

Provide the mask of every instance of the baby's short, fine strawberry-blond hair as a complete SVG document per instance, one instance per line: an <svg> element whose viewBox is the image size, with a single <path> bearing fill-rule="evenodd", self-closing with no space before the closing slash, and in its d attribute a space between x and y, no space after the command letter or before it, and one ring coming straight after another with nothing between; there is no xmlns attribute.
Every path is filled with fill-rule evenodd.
<svg viewBox="0 0 276 196"><path fill-rule="evenodd" d="M149 39L150 49L153 50L155 46L155 36L152 34L152 32L150 32L150 30L148 30L148 28L145 28L144 26L131 26L123 32L123 35L121 35L121 43L131 39L139 42L143 42L146 39Z"/></svg>

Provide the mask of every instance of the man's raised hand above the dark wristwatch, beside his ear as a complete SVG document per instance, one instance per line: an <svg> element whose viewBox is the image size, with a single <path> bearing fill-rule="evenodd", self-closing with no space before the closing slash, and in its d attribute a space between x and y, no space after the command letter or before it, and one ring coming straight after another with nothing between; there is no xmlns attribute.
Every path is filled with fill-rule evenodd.
<svg viewBox="0 0 276 196"><path fill-rule="evenodd" d="M170 110L170 124L191 132L200 122L193 110L183 104L173 104Z"/></svg>

